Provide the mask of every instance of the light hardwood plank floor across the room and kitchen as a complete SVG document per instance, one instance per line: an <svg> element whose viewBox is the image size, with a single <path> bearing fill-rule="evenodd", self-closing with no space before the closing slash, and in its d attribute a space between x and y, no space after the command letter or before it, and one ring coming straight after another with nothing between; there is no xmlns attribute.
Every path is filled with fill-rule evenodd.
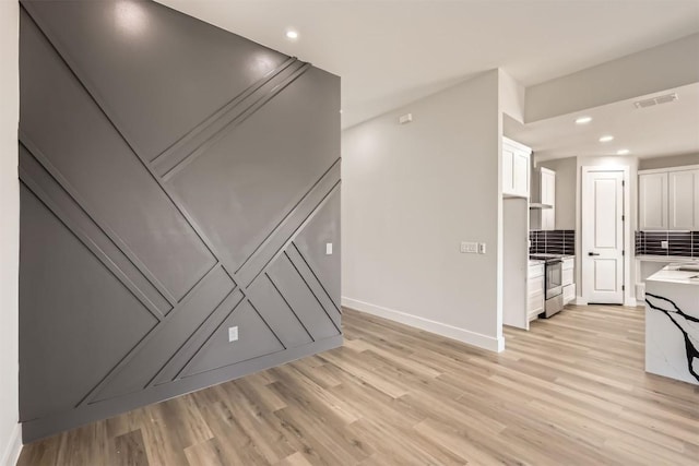
<svg viewBox="0 0 699 466"><path fill-rule="evenodd" d="M39 441L39 465L697 465L699 389L643 372L641 308L505 353L346 310L345 345Z"/></svg>

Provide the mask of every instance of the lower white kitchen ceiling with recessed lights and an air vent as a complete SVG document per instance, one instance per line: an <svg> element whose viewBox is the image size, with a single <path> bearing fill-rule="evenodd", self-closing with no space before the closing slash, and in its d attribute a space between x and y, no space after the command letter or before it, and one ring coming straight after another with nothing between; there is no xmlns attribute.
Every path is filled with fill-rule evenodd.
<svg viewBox="0 0 699 466"><path fill-rule="evenodd" d="M671 92L677 93L677 100L640 109L633 105L642 98ZM576 124L580 116L592 117L592 121ZM526 126L506 118L503 132L533 147L537 160L616 155L620 148L628 148L630 156L639 158L699 154L699 83ZM600 142L607 134L614 141Z"/></svg>

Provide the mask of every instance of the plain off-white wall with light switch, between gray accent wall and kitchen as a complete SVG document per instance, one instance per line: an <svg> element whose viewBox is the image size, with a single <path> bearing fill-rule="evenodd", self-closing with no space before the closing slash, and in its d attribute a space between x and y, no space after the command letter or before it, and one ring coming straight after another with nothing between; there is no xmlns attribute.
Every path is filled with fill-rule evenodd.
<svg viewBox="0 0 699 466"><path fill-rule="evenodd" d="M343 132L344 306L502 348L500 139L497 70Z"/></svg>

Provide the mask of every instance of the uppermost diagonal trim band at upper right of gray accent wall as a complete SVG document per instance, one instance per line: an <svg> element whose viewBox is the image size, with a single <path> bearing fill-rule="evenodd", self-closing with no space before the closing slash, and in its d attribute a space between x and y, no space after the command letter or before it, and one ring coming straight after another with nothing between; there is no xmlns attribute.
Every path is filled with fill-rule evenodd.
<svg viewBox="0 0 699 466"><path fill-rule="evenodd" d="M279 84L275 84L274 82L266 83L260 89L260 92L250 96L250 99L252 99L253 97L257 97L257 99L253 100L250 105L248 105L241 112L239 113L230 112L229 115L227 113L224 117L222 117L222 120L225 121L225 123L224 121L222 121L222 123L224 123L225 126L217 129L217 131L215 132L213 132L213 128L212 128L211 134L206 132L208 139L201 141L201 144L198 147L196 147L191 153L186 154L181 159L175 160L176 162L175 165L171 165L171 162L173 159L176 159L178 157L168 157L164 159L162 164L154 164L153 165L154 171L163 179L163 181L168 181L169 179L171 179L180 170L187 167L187 165L191 164L197 159L197 157L199 157L204 152L206 152L206 150L213 144L215 144L221 138L223 138L224 135L233 131L236 127L238 127L245 120L250 118L254 112L257 112L259 109L264 107L264 105L268 101L270 101L272 98L274 98L275 95L284 91L289 84L292 84L294 81L299 79L306 71L310 69L310 64L303 63L298 67L292 67L292 69L293 69L293 72L286 75L281 83ZM262 95L258 96L258 94L262 94ZM245 104L247 104L247 100L245 101ZM218 124L216 124L216 127L218 127ZM168 162L170 163L168 164Z"/></svg>

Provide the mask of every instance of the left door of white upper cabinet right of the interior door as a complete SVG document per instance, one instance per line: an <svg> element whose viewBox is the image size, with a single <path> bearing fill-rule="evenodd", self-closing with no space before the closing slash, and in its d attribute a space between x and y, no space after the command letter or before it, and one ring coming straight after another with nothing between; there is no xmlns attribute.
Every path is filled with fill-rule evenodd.
<svg viewBox="0 0 699 466"><path fill-rule="evenodd" d="M667 174L638 177L638 224L641 230L667 229Z"/></svg>

